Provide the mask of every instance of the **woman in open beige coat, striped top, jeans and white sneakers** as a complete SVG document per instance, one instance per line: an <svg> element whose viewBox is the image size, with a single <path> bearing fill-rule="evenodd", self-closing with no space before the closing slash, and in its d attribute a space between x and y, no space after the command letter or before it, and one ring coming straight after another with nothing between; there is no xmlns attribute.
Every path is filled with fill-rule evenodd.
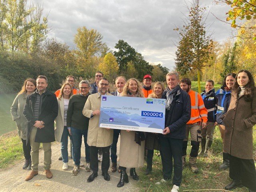
<svg viewBox="0 0 256 192"><path fill-rule="evenodd" d="M61 144L63 170L68 169L68 136L70 138L70 141L73 143L73 137L68 132L67 122L66 122L68 103L72 95L73 95L73 92L72 92L71 84L64 83L60 89L60 94L57 97L59 109L58 109L58 116L56 117L55 139Z"/></svg>

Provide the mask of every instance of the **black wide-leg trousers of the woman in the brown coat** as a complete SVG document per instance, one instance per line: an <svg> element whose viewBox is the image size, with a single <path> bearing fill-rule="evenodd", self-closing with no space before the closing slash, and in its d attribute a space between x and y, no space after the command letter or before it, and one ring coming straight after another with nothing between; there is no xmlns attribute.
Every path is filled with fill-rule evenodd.
<svg viewBox="0 0 256 192"><path fill-rule="evenodd" d="M256 171L253 159L240 159L230 155L229 177L241 180L242 185L256 191Z"/></svg>

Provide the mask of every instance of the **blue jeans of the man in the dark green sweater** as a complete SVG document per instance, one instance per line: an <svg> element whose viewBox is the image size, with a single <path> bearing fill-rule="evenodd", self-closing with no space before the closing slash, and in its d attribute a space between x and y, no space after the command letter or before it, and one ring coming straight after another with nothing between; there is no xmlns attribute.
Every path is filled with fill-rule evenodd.
<svg viewBox="0 0 256 192"><path fill-rule="evenodd" d="M82 136L84 135L84 145L85 145L85 161L90 162L90 146L87 144L87 132L88 130L81 130L71 127L71 134L73 136L73 160L77 166L80 165L81 158L81 145Z"/></svg>

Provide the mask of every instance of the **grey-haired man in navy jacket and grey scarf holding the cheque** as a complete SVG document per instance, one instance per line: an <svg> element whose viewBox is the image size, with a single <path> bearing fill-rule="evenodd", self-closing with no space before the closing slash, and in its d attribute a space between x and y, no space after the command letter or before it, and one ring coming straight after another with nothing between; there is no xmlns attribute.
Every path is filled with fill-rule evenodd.
<svg viewBox="0 0 256 192"><path fill-rule="evenodd" d="M190 120L190 96L179 85L179 74L169 72L166 75L168 89L162 95L166 99L165 129L160 135L160 152L163 165L163 179L156 183L166 182L172 177L172 158L174 160L173 188L178 192L182 180L182 144L186 136L186 123Z"/></svg>

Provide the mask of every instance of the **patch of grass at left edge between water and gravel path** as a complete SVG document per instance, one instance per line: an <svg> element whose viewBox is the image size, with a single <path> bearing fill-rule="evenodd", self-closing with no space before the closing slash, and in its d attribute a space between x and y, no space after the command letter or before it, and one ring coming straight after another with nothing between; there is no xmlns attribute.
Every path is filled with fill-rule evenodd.
<svg viewBox="0 0 256 192"><path fill-rule="evenodd" d="M0 136L0 169L14 164L14 162L24 158L22 142L17 131Z"/></svg>

